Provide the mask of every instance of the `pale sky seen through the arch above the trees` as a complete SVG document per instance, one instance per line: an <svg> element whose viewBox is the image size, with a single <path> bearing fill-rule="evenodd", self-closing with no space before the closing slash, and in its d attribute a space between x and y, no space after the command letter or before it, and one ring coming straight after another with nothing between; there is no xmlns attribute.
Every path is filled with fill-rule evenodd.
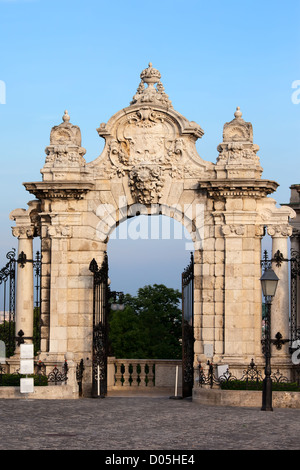
<svg viewBox="0 0 300 470"><path fill-rule="evenodd" d="M124 220L109 237L109 276L114 290L135 295L148 284L181 290L181 272L194 250L182 223L167 216Z"/></svg>

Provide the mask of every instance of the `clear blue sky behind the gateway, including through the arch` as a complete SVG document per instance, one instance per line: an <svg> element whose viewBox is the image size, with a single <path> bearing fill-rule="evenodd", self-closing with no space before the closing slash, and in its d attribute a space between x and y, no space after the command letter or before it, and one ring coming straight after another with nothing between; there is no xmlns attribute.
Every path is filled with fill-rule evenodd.
<svg viewBox="0 0 300 470"><path fill-rule="evenodd" d="M299 17L299 0L0 0L1 265L16 246L9 213L32 199L22 183L41 179L50 130L64 110L81 128L86 160L94 160L103 149L96 128L129 105L149 61L174 108L205 131L197 143L203 159L216 161L223 125L241 107L263 178L280 184L278 203L288 202L289 186L300 182L300 104L292 102ZM111 243L116 289L161 278L175 286L189 261L184 244L155 241L139 251L139 243ZM142 269L145 253L151 259ZM131 284L120 285L124 276Z"/></svg>

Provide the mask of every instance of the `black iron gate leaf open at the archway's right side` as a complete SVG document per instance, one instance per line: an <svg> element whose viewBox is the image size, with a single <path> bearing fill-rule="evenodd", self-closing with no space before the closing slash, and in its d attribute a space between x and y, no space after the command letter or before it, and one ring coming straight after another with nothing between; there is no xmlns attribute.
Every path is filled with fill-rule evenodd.
<svg viewBox="0 0 300 470"><path fill-rule="evenodd" d="M194 256L182 273L182 397L192 395L194 385Z"/></svg>

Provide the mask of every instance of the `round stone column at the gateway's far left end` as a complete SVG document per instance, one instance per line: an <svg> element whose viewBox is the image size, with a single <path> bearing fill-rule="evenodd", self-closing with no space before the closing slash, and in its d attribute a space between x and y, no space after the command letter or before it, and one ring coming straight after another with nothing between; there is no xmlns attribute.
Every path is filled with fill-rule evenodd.
<svg viewBox="0 0 300 470"><path fill-rule="evenodd" d="M16 336L23 331L26 343L33 340L33 236L34 228L18 226L13 228L18 237L18 266L16 288Z"/></svg>

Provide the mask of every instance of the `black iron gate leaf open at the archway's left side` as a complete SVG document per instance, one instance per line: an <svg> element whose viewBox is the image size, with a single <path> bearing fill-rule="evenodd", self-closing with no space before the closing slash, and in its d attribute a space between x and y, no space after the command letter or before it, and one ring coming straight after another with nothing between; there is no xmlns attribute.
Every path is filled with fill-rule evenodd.
<svg viewBox="0 0 300 470"><path fill-rule="evenodd" d="M108 258L104 255L102 266L98 268L95 259L90 263L94 275L93 283L93 370L92 395L105 397L107 394L107 354L108 354Z"/></svg>

